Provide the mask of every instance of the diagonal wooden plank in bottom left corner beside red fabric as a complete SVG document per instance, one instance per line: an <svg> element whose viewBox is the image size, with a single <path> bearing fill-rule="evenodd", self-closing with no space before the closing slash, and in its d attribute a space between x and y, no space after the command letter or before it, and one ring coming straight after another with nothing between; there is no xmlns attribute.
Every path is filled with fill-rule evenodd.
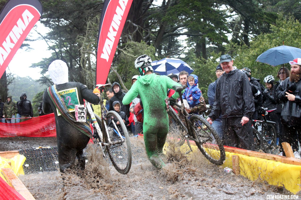
<svg viewBox="0 0 301 200"><path fill-rule="evenodd" d="M10 184L17 192L19 192L20 195L22 195L26 200L35 199L11 168L2 168L2 173L8 181L8 184Z"/></svg>

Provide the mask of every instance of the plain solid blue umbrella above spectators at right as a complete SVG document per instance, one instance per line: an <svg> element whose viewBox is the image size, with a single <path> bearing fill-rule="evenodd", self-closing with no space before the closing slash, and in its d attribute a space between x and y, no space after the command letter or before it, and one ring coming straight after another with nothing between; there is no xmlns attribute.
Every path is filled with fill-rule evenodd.
<svg viewBox="0 0 301 200"><path fill-rule="evenodd" d="M276 66L288 63L295 58L301 58L301 49L282 45L266 50L258 56L256 61Z"/></svg>

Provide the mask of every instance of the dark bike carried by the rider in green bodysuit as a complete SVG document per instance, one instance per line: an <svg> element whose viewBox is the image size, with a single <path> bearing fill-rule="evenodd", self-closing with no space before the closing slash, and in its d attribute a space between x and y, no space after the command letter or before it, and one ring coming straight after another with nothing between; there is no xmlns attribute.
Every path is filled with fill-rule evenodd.
<svg viewBox="0 0 301 200"><path fill-rule="evenodd" d="M190 141L194 141L199 150L210 162L215 165L222 165L226 158L222 140L203 116L188 114L188 112L184 109L185 107L181 91L185 88L186 86L174 86L175 91L179 92L182 105L178 105L175 102L169 102L171 106L177 106L180 109L179 112L184 116L185 123L180 120L178 114L176 114L172 108L169 108L169 103L166 99L167 112L179 127L180 132L182 132L178 145L182 146L186 140L190 149L186 152L187 154L192 151Z"/></svg>

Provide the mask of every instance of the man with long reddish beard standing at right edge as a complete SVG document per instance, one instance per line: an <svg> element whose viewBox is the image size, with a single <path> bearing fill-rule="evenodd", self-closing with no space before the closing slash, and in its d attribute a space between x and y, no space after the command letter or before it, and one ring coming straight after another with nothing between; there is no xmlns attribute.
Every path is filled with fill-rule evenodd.
<svg viewBox="0 0 301 200"><path fill-rule="evenodd" d="M301 58L290 61L290 77L286 78L276 89L277 98L284 102L281 112L283 123L283 141L288 142L295 158L300 159L298 153L297 132L301 132ZM294 139L295 138L295 139ZM283 152L283 156L284 152Z"/></svg>

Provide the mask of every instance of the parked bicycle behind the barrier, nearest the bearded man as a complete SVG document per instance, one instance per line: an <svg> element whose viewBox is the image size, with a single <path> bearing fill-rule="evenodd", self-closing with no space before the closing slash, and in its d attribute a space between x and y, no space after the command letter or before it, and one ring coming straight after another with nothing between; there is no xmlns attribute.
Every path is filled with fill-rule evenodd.
<svg viewBox="0 0 301 200"><path fill-rule="evenodd" d="M263 138L264 152L273 153L276 148L277 132L275 122L266 120L265 115L268 114L263 108L259 110L262 120L252 120L254 128L261 134Z"/></svg>

